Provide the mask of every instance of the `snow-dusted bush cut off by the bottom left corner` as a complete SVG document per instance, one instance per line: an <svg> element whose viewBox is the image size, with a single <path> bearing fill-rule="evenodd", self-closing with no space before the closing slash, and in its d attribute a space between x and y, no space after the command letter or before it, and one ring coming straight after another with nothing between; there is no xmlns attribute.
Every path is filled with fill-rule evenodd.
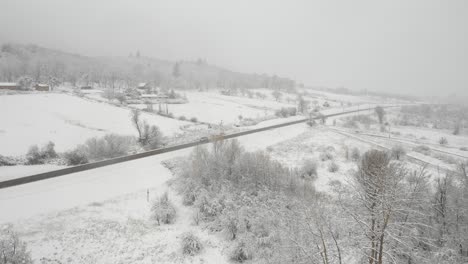
<svg viewBox="0 0 468 264"><path fill-rule="evenodd" d="M0 263L33 263L26 243L19 239L10 226L0 227Z"/></svg>

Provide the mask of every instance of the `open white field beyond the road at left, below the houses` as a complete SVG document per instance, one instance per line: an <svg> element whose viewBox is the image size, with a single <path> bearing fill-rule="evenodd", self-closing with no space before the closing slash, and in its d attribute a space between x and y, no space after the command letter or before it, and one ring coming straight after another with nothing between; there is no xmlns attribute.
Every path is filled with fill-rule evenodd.
<svg viewBox="0 0 468 264"><path fill-rule="evenodd" d="M143 113L165 135L180 132L189 122ZM136 135L130 110L67 94L0 96L0 155L24 155L31 145L55 143L66 151L86 139L107 133Z"/></svg>

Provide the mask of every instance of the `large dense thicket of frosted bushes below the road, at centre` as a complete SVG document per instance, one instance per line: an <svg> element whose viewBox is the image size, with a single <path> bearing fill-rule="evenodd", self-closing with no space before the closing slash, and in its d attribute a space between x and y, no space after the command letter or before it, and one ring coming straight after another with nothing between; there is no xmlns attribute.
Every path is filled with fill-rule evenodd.
<svg viewBox="0 0 468 264"><path fill-rule="evenodd" d="M314 161L291 170L264 152L246 152L236 140L197 147L180 168L179 191L183 203L195 209L194 222L223 232L236 262L279 256L286 248L280 233L287 232L279 225L287 222L291 203L315 195Z"/></svg>

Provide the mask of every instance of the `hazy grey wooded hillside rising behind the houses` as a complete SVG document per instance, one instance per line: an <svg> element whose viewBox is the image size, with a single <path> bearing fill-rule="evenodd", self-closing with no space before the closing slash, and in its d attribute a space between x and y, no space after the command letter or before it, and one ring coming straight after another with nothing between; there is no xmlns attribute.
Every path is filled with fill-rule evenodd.
<svg viewBox="0 0 468 264"><path fill-rule="evenodd" d="M128 57L87 57L36 45L2 45L0 81L14 82L24 76L34 82L70 82L77 86L96 83L101 87L133 87L139 82L179 89L287 90L295 86L287 78L233 72L202 59L172 62L139 53Z"/></svg>

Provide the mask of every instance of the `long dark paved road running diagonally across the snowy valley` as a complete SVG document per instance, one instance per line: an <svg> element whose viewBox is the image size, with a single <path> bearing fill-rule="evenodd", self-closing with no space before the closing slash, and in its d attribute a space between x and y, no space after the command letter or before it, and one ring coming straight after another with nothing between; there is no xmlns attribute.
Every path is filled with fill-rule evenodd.
<svg viewBox="0 0 468 264"><path fill-rule="evenodd" d="M397 107L397 106L386 106L384 108L390 108L390 107ZM373 107L370 108L365 108L365 109L358 109L358 110L351 110L351 111L345 111L345 112L340 112L340 113L335 113L335 114L329 114L329 115L324 115L323 117L328 118L328 117L333 117L333 116L339 116L339 115L345 115L345 114L352 114L356 112L361 112L361 111L368 111L374 109ZM318 120L321 119L322 117L314 117L312 119ZM296 125L300 124L303 122L309 121L310 118L304 118L296 121L291 121L291 122L286 122L286 123L281 123L277 125L271 125L271 126L266 126L262 128L255 128L247 131L242 131L242 132L237 132L237 133L232 133L232 134L227 134L223 136L223 139L230 139L230 138L235 138L235 137L240 137L240 136L245 136L253 133L258 133L262 131L267 131L275 128L280 128L280 127L285 127L285 126L291 126L291 125ZM43 172L43 173L38 173L26 177L21 177L21 178L15 178L11 180L6 180L0 182L0 189L3 188L8 188L8 187L13 187L17 185L22 185L26 183L31 183L31 182L36 182L36 181L41 181L41 180L46 180L46 179L51 179L55 177L60 177L76 172L81 172L81 171L86 171L86 170L92 170L104 166L109 166L109 165L114 165L122 162L127 162L131 160L136 160L136 159L141 159L149 156L154 156L154 155L159 155L167 152L172 152L176 150L181 150L185 148L190 148L194 147L197 145L203 145L203 144L208 144L211 143L214 140L207 140L207 141L195 141L195 142L190 142L190 143L184 143L180 145L175 145L175 146L170 146L170 147L165 147L165 148L159 148L155 150L150 150L146 152L141 152L137 154L131 154L127 156L122 156L122 157L117 157L113 159L107 159L107 160L102 160L102 161L97 161L97 162L92 162L92 163L87 163L83 165L78 165L78 166L73 166L73 167L67 167L64 169L59 169L59 170L54 170L54 171L48 171L48 172Z"/></svg>

